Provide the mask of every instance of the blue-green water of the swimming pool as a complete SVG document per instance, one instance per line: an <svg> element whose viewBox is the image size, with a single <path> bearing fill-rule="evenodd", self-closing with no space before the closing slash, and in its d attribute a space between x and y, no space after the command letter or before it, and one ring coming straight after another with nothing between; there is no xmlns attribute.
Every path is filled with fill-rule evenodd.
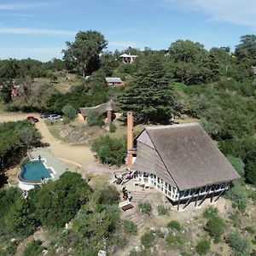
<svg viewBox="0 0 256 256"><path fill-rule="evenodd" d="M45 168L42 161L36 160L22 165L20 177L26 180L41 180L42 177L50 177L49 169Z"/></svg>

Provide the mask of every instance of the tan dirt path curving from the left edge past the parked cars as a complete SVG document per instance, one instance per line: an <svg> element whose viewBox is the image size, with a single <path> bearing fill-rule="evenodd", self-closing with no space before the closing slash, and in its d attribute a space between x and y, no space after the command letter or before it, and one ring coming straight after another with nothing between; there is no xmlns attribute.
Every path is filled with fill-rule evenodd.
<svg viewBox="0 0 256 256"><path fill-rule="evenodd" d="M29 115L39 119L38 113L0 113L0 123L26 119L26 117ZM39 119L36 127L41 132L43 137L42 142L49 143L49 149L53 152L53 154L60 157L62 160L68 160L73 164L77 163L81 166L95 162L94 156L89 147L73 146L59 141L50 134L47 125L44 123L44 120Z"/></svg>

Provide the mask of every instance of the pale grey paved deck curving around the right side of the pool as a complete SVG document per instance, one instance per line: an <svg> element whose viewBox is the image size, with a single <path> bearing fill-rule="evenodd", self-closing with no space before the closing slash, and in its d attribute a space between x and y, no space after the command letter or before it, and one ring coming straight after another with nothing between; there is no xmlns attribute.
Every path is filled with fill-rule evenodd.
<svg viewBox="0 0 256 256"><path fill-rule="evenodd" d="M53 169L53 178L52 180L57 180L62 173L70 171L70 167L67 164L63 163L54 154L52 154L47 148L36 148L32 149L29 152L29 157L32 159L38 159L38 156L41 156L42 160L45 160L44 165Z"/></svg>

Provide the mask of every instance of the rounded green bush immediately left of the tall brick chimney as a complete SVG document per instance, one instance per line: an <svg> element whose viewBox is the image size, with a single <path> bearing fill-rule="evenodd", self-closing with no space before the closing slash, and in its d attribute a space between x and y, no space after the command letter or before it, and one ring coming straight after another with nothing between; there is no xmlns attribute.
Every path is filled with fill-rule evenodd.
<svg viewBox="0 0 256 256"><path fill-rule="evenodd" d="M97 138L91 146L103 164L121 166L125 162L125 141L108 135Z"/></svg>

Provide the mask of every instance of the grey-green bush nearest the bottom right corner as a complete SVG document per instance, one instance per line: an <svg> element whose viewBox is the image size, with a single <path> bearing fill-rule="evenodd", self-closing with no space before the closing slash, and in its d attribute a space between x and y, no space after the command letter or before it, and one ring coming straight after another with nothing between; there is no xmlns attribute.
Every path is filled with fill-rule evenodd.
<svg viewBox="0 0 256 256"><path fill-rule="evenodd" d="M226 238L227 243L231 248L239 253L246 253L249 247L249 241L238 232L233 232Z"/></svg>

